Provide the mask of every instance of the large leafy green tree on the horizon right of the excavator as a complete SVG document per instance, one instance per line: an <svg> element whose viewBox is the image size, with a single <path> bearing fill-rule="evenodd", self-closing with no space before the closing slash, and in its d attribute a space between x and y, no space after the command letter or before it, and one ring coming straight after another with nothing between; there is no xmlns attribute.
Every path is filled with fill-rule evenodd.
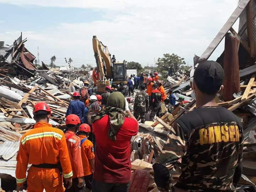
<svg viewBox="0 0 256 192"><path fill-rule="evenodd" d="M164 57L158 58L158 62L156 63L158 65L157 71L168 71L170 67L172 67L174 68L174 72L176 72L186 65L184 60L184 58L181 58L174 53L166 53L164 54Z"/></svg>

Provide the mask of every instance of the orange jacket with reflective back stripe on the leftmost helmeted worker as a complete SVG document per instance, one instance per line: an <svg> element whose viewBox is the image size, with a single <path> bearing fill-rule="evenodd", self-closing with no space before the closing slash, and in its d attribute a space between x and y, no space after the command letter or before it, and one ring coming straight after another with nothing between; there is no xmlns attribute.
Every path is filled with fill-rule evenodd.
<svg viewBox="0 0 256 192"><path fill-rule="evenodd" d="M28 164L58 164L60 161L63 177L73 176L64 133L46 122L36 123L32 130L21 137L16 159L17 185L26 181Z"/></svg>

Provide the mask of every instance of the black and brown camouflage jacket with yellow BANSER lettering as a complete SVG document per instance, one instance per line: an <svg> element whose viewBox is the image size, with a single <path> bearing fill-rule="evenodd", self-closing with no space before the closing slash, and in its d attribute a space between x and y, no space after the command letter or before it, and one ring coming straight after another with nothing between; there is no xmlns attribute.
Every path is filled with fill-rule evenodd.
<svg viewBox="0 0 256 192"><path fill-rule="evenodd" d="M200 107L176 121L158 162L180 167L175 187L191 192L234 191L242 147L242 125L234 113L223 107Z"/></svg>

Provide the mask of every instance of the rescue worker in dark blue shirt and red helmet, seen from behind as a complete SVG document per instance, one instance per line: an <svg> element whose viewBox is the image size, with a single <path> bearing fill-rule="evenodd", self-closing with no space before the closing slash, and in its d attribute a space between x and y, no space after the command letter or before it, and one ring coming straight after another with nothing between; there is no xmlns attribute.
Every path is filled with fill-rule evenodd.
<svg viewBox="0 0 256 192"><path fill-rule="evenodd" d="M74 92L73 94L73 101L69 103L68 110L66 111L66 116L69 114L75 114L80 118L81 122L84 122L84 111L85 111L85 104L84 102L80 101L80 93Z"/></svg>

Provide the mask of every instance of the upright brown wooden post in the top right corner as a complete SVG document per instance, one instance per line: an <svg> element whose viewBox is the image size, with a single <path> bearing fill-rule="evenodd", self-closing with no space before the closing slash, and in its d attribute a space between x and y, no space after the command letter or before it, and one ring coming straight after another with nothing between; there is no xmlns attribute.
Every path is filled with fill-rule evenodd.
<svg viewBox="0 0 256 192"><path fill-rule="evenodd" d="M249 3L246 6L246 23L247 23L247 38L248 38L248 44L250 47L250 57L254 58L254 37L253 37L253 2L252 0L249 1ZM251 63L253 64L253 63Z"/></svg>

